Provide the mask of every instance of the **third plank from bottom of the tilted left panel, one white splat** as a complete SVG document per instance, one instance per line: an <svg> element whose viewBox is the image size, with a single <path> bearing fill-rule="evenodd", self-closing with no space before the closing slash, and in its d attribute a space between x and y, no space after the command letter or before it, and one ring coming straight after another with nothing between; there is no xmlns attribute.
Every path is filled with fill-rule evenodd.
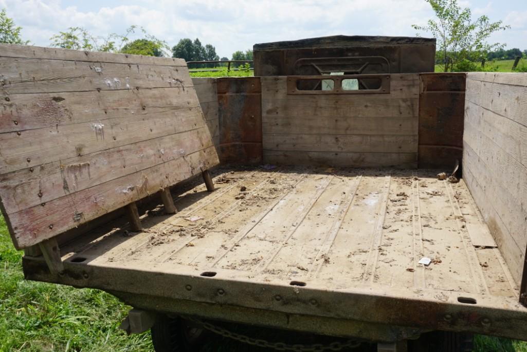
<svg viewBox="0 0 527 352"><path fill-rule="evenodd" d="M30 130L20 135L2 133L0 173L34 168L60 159L199 129L204 124L201 109L195 107L153 114L150 118L131 115Z"/></svg>

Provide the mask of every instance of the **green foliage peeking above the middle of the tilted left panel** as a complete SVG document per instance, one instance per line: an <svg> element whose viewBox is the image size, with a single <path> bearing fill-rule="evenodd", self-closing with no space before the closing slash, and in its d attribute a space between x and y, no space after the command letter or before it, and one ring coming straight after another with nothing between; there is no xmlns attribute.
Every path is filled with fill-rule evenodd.
<svg viewBox="0 0 527 352"><path fill-rule="evenodd" d="M130 35L138 29L144 38L130 42ZM53 35L50 40L51 46L64 49L149 56L164 56L164 50L168 48L167 43L135 25L127 28L124 34L111 33L105 37L93 36L82 27L70 27L65 32Z"/></svg>

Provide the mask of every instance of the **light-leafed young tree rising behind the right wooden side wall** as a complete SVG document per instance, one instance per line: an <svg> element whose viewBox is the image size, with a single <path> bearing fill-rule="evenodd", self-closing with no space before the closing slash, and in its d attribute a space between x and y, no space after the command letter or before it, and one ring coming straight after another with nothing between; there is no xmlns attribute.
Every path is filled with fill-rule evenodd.
<svg viewBox="0 0 527 352"><path fill-rule="evenodd" d="M415 30L430 32L438 40L439 52L445 72L455 70L463 61L481 61L492 50L505 44L487 43L489 36L510 26L502 21L490 22L481 16L472 20L470 8L462 9L457 0L425 0L432 6L437 20L430 19L426 26L412 25Z"/></svg>

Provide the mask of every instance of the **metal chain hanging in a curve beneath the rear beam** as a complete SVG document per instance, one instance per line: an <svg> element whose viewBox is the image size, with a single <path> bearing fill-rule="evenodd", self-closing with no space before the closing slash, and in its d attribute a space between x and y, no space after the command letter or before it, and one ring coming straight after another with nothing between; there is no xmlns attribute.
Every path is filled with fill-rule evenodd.
<svg viewBox="0 0 527 352"><path fill-rule="evenodd" d="M233 333L232 331L229 331L227 329L224 329L220 326L210 324L210 322L201 321L196 318L191 317L184 317L185 319L188 319L190 321L196 322L197 324L201 325L204 329L212 331L214 334L218 334L224 337L231 338L233 340L240 341L245 344L258 346L258 347L264 347L264 348L272 348L276 349L278 351L295 351L295 352L323 352L326 350L329 351L340 351L344 348L355 348L360 345L360 342L355 340L347 340L343 343L335 341L333 343L330 343L328 345L322 345L322 344L314 344L314 345L302 345L302 344L295 344L295 345L287 345L282 342L277 343L271 343L266 340L262 339L255 339L246 335Z"/></svg>

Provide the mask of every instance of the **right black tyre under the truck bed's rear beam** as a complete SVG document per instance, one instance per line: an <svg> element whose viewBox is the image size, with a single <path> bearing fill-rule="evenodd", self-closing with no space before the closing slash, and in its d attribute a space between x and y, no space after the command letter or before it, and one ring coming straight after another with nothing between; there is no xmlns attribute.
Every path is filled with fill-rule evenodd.
<svg viewBox="0 0 527 352"><path fill-rule="evenodd" d="M409 352L472 352L474 336L454 331L432 331L408 340Z"/></svg>

